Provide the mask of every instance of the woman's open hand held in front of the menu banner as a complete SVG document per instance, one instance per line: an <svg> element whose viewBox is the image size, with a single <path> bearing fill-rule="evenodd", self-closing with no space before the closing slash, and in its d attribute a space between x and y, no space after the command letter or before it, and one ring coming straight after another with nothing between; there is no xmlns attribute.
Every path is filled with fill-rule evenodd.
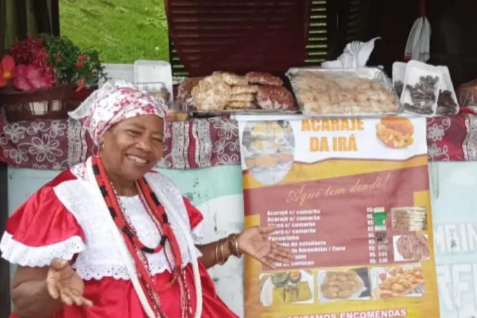
<svg viewBox="0 0 477 318"><path fill-rule="evenodd" d="M268 234L275 230L274 227L265 226L244 230L238 238L240 251L272 269L275 268L275 262L289 263L295 258L290 250L268 240Z"/></svg>

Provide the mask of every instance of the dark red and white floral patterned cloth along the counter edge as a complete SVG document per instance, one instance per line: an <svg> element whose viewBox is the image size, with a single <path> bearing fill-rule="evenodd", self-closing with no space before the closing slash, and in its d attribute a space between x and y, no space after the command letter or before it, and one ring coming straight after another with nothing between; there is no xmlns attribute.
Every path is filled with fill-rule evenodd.
<svg viewBox="0 0 477 318"><path fill-rule="evenodd" d="M0 117L0 161L11 166L65 169L95 151L75 120L7 123ZM477 161L477 116L428 119L430 161ZM239 164L237 122L226 118L169 122L164 168L191 169Z"/></svg>

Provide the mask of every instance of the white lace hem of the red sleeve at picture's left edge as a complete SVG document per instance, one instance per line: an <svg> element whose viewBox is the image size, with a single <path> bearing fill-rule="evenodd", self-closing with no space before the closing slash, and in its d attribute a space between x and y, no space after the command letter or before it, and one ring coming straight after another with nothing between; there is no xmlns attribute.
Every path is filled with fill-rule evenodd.
<svg viewBox="0 0 477 318"><path fill-rule="evenodd" d="M15 241L12 234L5 232L0 241L1 257L24 267L46 267L54 257L72 260L75 254L84 249L84 242L79 236L47 246L33 247Z"/></svg>

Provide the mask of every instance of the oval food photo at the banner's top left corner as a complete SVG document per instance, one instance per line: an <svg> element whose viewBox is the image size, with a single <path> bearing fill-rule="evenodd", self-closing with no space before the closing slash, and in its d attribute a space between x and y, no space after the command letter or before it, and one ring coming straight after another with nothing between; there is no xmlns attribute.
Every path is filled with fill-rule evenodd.
<svg viewBox="0 0 477 318"><path fill-rule="evenodd" d="M263 184L283 180L293 165L295 137L286 120L247 122L242 153L251 175Z"/></svg>

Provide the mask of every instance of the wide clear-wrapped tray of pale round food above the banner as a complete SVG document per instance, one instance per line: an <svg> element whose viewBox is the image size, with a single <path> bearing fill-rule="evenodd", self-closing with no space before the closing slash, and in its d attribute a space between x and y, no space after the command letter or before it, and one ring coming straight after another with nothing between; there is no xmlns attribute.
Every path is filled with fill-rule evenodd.
<svg viewBox="0 0 477 318"><path fill-rule="evenodd" d="M401 112L391 80L377 67L292 67L286 75L306 116L393 116Z"/></svg>

